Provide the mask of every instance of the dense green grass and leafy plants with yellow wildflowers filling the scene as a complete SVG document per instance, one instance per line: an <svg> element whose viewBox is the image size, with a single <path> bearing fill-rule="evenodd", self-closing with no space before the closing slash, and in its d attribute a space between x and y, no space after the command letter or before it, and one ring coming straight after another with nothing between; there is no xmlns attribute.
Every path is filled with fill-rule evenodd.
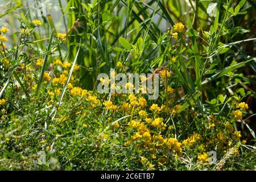
<svg viewBox="0 0 256 182"><path fill-rule="evenodd" d="M209 3L3 1L0 169L255 169L255 3ZM100 73L159 67L157 100L97 92Z"/></svg>

